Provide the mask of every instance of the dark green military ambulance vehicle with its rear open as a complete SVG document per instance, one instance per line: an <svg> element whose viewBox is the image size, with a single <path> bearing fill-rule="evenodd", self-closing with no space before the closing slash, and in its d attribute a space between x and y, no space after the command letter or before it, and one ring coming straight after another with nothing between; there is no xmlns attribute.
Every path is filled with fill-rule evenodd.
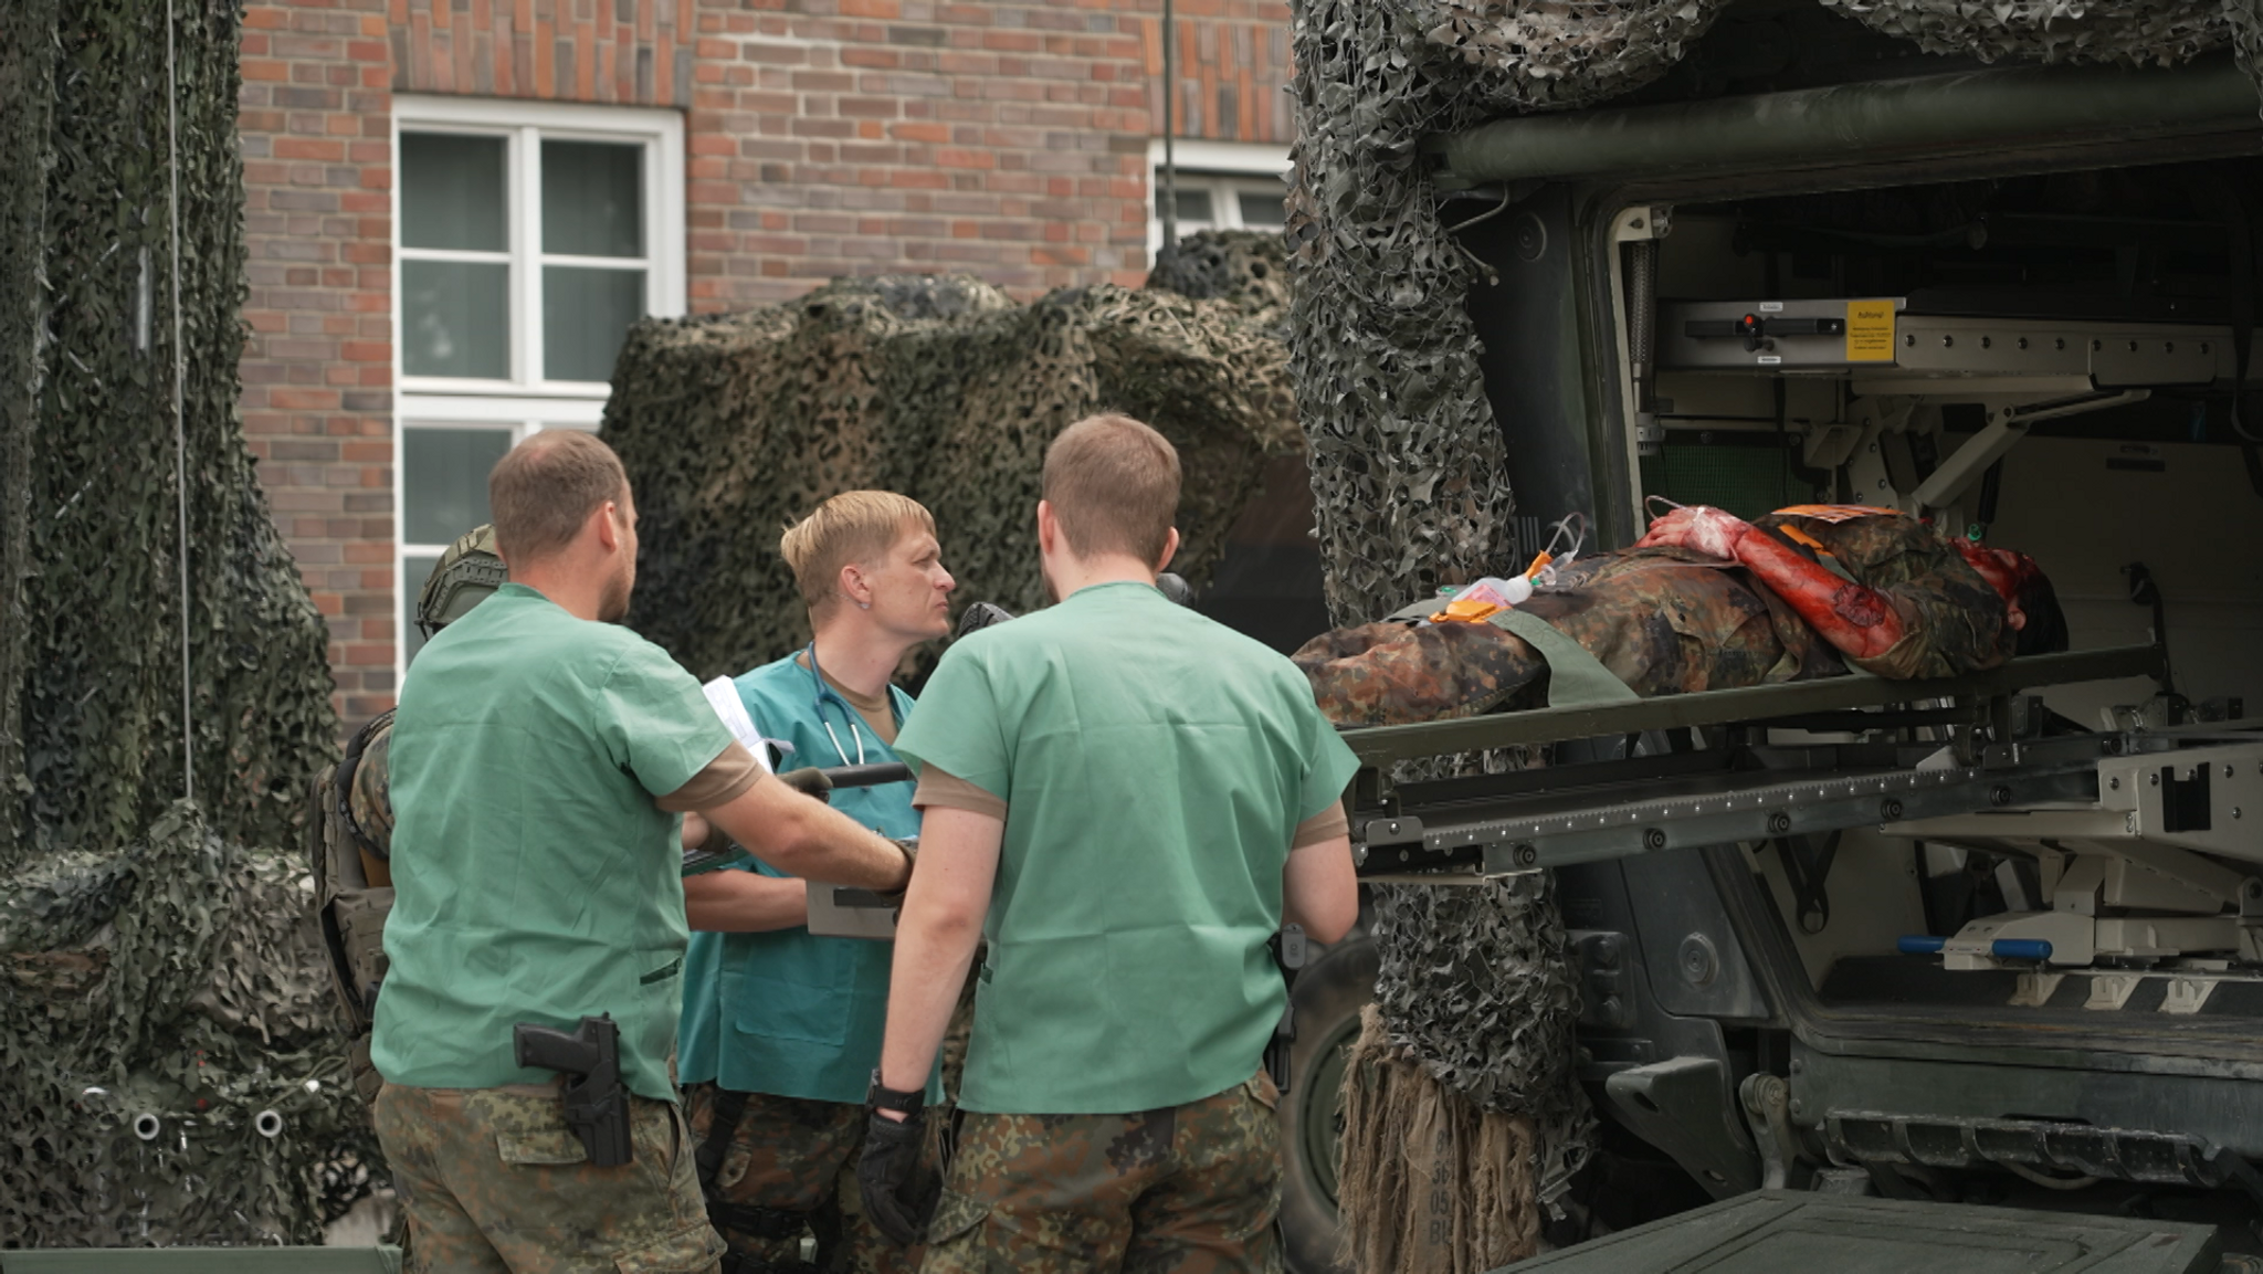
<svg viewBox="0 0 2263 1274"><path fill-rule="evenodd" d="M1668 1186L1575 1186L1550 1236L1720 1202L1534 1265L2263 1249L2256 111L2229 50L1982 66L1754 0L1634 95L1423 143L1523 534L1627 545L1652 496L1894 507L2034 554L2073 636L1944 683L1349 733L1362 876L1557 873L1591 1172ZM1512 744L1548 765L1394 781ZM1340 944L1297 989L1306 1272L1374 969Z"/></svg>

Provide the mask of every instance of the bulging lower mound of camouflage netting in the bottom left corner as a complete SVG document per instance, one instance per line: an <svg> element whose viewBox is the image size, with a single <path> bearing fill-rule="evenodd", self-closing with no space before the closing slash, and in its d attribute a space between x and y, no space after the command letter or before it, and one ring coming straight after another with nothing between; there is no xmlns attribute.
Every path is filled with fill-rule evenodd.
<svg viewBox="0 0 2263 1274"><path fill-rule="evenodd" d="M296 855L181 801L0 892L0 1224L25 1247L321 1242L382 1172Z"/></svg>

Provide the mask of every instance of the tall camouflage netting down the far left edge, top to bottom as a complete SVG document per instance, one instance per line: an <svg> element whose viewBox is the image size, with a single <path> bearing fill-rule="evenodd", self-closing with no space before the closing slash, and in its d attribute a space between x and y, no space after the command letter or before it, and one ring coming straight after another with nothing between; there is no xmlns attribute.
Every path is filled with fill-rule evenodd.
<svg viewBox="0 0 2263 1274"><path fill-rule="evenodd" d="M0 1247L312 1242L371 1161L294 851L328 634L233 414L238 5L174 16L177 167L161 0L0 5Z"/></svg>

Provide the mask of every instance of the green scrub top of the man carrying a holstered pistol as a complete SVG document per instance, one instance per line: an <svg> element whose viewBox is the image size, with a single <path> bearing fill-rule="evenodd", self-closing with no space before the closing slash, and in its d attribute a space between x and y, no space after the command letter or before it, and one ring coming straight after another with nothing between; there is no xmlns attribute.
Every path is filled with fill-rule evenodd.
<svg viewBox="0 0 2263 1274"><path fill-rule="evenodd" d="M611 1014L627 1086L672 1102L683 824L654 797L729 747L668 652L525 584L434 636L394 715L378 1073L541 1084L557 1073L516 1066L511 1027Z"/></svg>

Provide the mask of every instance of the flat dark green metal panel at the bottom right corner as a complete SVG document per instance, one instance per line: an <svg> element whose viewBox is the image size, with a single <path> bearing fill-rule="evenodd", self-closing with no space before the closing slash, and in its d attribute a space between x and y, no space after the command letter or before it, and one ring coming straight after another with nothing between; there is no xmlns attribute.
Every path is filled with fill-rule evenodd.
<svg viewBox="0 0 2263 1274"><path fill-rule="evenodd" d="M1756 1190L1507 1265L1516 1274L2215 1274L2213 1226Z"/></svg>

